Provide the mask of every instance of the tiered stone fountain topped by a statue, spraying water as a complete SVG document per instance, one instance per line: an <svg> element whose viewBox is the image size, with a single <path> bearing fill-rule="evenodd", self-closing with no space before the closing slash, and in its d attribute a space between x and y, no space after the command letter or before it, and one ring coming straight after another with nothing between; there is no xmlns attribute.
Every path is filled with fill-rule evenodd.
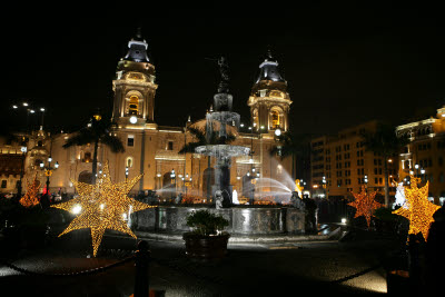
<svg viewBox="0 0 445 297"><path fill-rule="evenodd" d="M305 209L296 192L293 194L291 206L236 206L233 202L230 185L231 159L249 155L250 149L226 143L227 127L239 128L239 113L233 111L233 96L229 93L228 66L225 58L218 60L220 82L214 96L214 110L206 116L207 142L218 136L220 143L197 147L195 152L211 156L216 159L215 184L211 186L214 206L159 206L138 215L137 231L154 238L161 235L175 235L188 231L187 216L198 209L207 208L211 212L224 216L229 221L227 231L231 240L237 236L270 236L305 232ZM290 190L289 190L290 196ZM151 212L151 214L150 214ZM148 231L148 234L147 234ZM155 234L152 234L155 231ZM157 237L158 236L158 237ZM283 238L280 238L281 240Z"/></svg>

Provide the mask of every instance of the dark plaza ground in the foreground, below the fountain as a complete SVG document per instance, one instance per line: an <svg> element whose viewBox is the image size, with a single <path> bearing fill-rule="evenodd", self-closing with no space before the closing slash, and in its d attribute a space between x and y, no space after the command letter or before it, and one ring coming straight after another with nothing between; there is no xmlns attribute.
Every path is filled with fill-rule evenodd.
<svg viewBox="0 0 445 297"><path fill-rule="evenodd" d="M69 274L116 263L131 255L137 240L105 237L97 258L88 256L90 242L88 234L55 238L32 250L11 250L3 241L2 258L31 271ZM156 259L149 284L161 296L384 295L383 266L399 248L394 237L357 230L343 240L230 244L224 260L201 264L186 258L184 242L149 245ZM30 276L0 265L0 296L129 296L134 277L134 263L90 276Z"/></svg>

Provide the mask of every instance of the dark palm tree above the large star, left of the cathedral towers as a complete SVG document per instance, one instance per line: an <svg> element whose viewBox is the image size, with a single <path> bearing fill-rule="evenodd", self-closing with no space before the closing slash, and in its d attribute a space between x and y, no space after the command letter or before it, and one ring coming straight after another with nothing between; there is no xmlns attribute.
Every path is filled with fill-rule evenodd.
<svg viewBox="0 0 445 297"><path fill-rule="evenodd" d="M122 141L111 133L112 122L109 119L102 119L100 116L92 117L87 128L79 130L73 137L69 138L63 145L63 148L72 146L85 146L87 143L95 143L95 151L92 157L92 176L91 184L96 184L97 172L97 158L99 143L106 145L112 152L123 152Z"/></svg>

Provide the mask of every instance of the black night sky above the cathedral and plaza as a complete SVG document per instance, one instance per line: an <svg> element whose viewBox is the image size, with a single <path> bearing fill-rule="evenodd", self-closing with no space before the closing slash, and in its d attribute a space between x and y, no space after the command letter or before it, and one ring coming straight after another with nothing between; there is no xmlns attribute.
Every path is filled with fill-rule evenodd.
<svg viewBox="0 0 445 297"><path fill-rule="evenodd" d="M216 63L206 58L219 56L228 58L235 109L247 122L246 102L268 46L288 81L297 132L432 116L445 105L443 11L421 2L254 2L249 9L20 3L1 20L0 123L24 127L24 112L11 109L22 100L44 106L46 125L57 128L83 125L95 108L109 111L116 66L137 27L157 71L158 125L204 117L218 82Z"/></svg>

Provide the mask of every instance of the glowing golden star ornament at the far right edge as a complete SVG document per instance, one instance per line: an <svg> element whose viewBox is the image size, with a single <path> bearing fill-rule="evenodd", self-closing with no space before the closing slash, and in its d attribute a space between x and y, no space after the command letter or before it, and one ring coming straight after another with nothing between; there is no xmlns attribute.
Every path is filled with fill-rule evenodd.
<svg viewBox="0 0 445 297"><path fill-rule="evenodd" d="M428 201L429 182L422 188L417 188L418 178L411 176L411 187L405 187L405 205L393 211L395 215L403 216L409 220L409 234L422 232L425 241L428 238L429 227L434 221L433 215L439 209Z"/></svg>

